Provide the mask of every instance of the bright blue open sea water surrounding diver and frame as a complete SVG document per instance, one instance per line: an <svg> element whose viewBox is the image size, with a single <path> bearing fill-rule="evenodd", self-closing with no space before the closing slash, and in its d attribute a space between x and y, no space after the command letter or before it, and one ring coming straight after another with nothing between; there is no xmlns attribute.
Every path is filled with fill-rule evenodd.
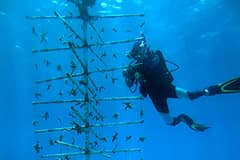
<svg viewBox="0 0 240 160"><path fill-rule="evenodd" d="M106 4L108 4L107 7ZM47 136L39 138L40 136L33 134L33 130L36 128L32 126L32 120L39 119L39 115L45 110L64 118L66 112L64 109L59 111L58 106L50 109L47 108L49 106L32 106L32 100L36 100L33 96L35 92L46 93L44 89L46 86L39 87L34 84L34 81L58 75L59 72L53 65L65 63L65 58L69 60L73 56L62 53L59 54L59 57L54 53L54 55L33 55L31 50L59 45L56 43L56 35L66 31L60 21L29 21L25 19L25 16L29 15L53 15L55 10L64 14L68 13L67 9L73 9L71 5L64 5L65 1L0 1L0 159L2 160L39 159L39 154L35 154L33 145L39 139L44 141L43 145L46 145L48 138ZM156 2L134 0L126 2L106 0L97 1L97 5L96 8L92 8L92 12L145 13L144 18L99 20L96 22L96 26L105 28L106 32L103 37L106 41L138 37L139 32L144 31L148 44L153 49L161 49L167 59L181 66L180 70L173 73L174 84L177 86L197 90L237 77L240 74L240 4L238 1L172 0ZM72 11L73 14L76 13L76 10ZM145 21L145 25L141 29L139 24L143 21ZM77 24L75 25L77 26ZM39 39L31 33L32 26L38 31L48 32L48 43L39 43ZM111 31L113 27L118 29L117 33ZM132 32L127 33L125 29L129 28ZM114 61L111 56L107 56L105 61L111 62L110 66L128 64L124 55L130 47L131 44L106 47L109 54L117 51L119 60ZM49 68L44 66L46 57L52 62L52 66ZM39 70L34 68L34 64L39 64ZM91 65L91 67L93 66ZM66 72L69 71L67 67L69 66L63 67ZM111 74L109 75L111 76ZM112 76L119 79L115 85L111 81L102 82L101 76L95 77L98 84L104 83L109 89L101 96L130 96L131 93L124 86L121 73L114 72ZM53 89L55 95L52 92L46 93L44 100L60 99L61 97L56 96L60 86L61 84L56 84ZM64 91L64 93L66 92ZM118 153L114 155L115 159L131 160L141 157L145 160L239 159L240 108L238 102L239 94L203 97L196 101L169 100L172 115L186 113L197 122L211 126L203 133L194 132L184 124L176 127L165 125L148 98L136 102L136 108L128 112L119 107L121 103L116 106L111 106L113 103L103 103L102 105L105 106L99 110L106 114L106 122L107 120L113 121L111 118L113 112L119 112L121 120L124 121L133 120L134 116L138 118L136 112L139 111L137 107L139 106L144 109L145 123L142 126L133 127L133 129L116 127L101 129L99 132L111 137L114 131L119 131L120 137L114 145L111 146L112 143L109 142L104 144L105 147L131 145L143 149L141 153ZM47 122L40 120L42 128L59 127L56 117L54 118L55 121L53 119L49 119ZM69 121L66 121L64 126L69 126ZM127 134L133 136L130 144L124 140L124 136ZM137 137L142 135L146 137L144 143L137 141ZM121 139L123 140L121 141ZM59 147L57 149L49 148L44 148L43 152L66 151ZM93 159L106 158L99 156Z"/></svg>

